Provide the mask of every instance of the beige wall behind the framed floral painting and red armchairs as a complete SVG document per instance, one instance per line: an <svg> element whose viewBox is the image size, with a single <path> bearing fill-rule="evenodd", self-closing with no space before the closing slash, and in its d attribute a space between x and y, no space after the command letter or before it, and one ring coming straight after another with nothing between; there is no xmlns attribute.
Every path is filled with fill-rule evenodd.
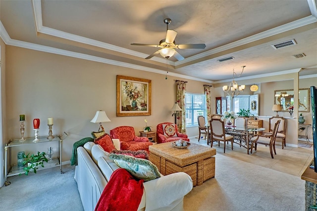
<svg viewBox="0 0 317 211"><path fill-rule="evenodd" d="M63 161L70 159L74 142L98 130L98 124L90 122L97 110L105 110L111 120L103 123L106 132L130 125L139 134L145 118L156 130L160 122L174 121L170 108L176 101L176 79L188 81L187 91L191 93L204 93L203 84L206 84L168 75L165 80L164 74L13 46L6 48L6 62L8 139L20 138L19 114L26 115L24 137L34 136L34 118L41 120L39 135L48 135L47 118L53 117L53 134L63 131L69 134L63 142ZM116 116L116 75L152 80L152 115ZM187 129L189 136L197 132L197 127ZM12 155L16 154L12 152Z"/></svg>

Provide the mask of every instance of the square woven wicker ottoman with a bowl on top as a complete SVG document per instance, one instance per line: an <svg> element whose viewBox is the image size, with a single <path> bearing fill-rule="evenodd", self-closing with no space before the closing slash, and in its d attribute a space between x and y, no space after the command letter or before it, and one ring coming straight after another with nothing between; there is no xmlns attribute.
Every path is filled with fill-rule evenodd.
<svg viewBox="0 0 317 211"><path fill-rule="evenodd" d="M168 142L149 146L149 151L151 162L158 166L163 175L185 172L191 176L194 186L214 177L215 149L198 144L178 149Z"/></svg>

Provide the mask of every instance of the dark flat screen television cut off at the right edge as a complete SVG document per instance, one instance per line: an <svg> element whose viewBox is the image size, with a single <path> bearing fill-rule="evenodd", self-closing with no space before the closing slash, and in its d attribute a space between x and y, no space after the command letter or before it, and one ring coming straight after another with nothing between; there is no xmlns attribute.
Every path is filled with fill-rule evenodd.
<svg viewBox="0 0 317 211"><path fill-rule="evenodd" d="M314 169L317 172L317 88L311 86L312 126L314 144Z"/></svg>

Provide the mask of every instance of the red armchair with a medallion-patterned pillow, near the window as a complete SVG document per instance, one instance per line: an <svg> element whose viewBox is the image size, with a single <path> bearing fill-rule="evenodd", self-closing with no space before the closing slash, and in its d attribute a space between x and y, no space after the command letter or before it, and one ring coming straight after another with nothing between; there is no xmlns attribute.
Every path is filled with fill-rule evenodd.
<svg viewBox="0 0 317 211"><path fill-rule="evenodd" d="M179 139L182 139L184 141L189 141L189 138L186 134L178 132L176 124L170 123L170 122L164 122L157 125L158 143L177 141Z"/></svg>

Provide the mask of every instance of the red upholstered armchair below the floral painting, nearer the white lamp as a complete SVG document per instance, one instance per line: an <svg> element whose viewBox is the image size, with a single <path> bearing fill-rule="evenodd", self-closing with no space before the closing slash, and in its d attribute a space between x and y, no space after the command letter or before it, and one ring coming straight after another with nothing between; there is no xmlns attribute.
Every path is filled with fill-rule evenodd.
<svg viewBox="0 0 317 211"><path fill-rule="evenodd" d="M149 146L153 143L147 137L138 137L135 135L134 128L131 126L119 126L110 130L110 136L113 139L120 140L121 150L146 150L149 152Z"/></svg>

